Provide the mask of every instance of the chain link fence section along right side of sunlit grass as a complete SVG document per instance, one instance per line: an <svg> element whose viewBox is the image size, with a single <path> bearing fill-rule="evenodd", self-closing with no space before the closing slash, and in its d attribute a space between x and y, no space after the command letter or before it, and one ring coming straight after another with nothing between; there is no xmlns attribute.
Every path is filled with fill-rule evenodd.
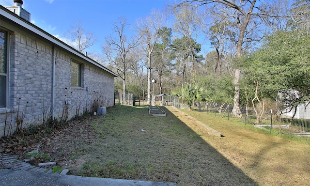
<svg viewBox="0 0 310 186"><path fill-rule="evenodd" d="M177 100L177 99L174 99ZM174 107L180 109L188 109L183 103L173 103ZM308 107L310 107L308 105ZM208 112L214 114L216 117L227 118L232 117L232 104L226 103L205 103L195 102L192 109L201 112ZM298 118L288 117L286 114L275 114L272 109L264 109L261 114L260 123L257 123L256 112L252 107L241 107L242 118L240 119L245 125L251 124L254 127L266 130L272 134L286 136L293 139L298 138L301 140L310 140L310 109L301 109ZM260 110L257 110L258 112ZM302 117L300 117L302 115Z"/></svg>

